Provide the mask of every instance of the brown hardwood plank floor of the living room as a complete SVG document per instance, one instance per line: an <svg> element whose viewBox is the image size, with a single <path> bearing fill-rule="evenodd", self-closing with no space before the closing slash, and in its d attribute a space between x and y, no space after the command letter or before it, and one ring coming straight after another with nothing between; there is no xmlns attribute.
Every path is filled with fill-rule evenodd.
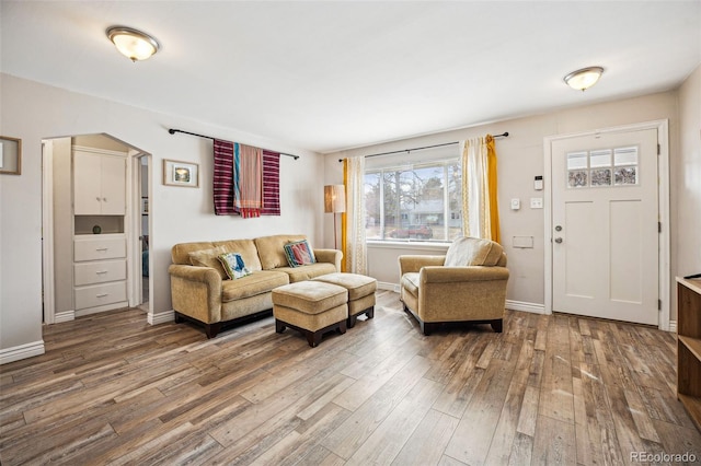
<svg viewBox="0 0 701 466"><path fill-rule="evenodd" d="M0 366L0 461L701 462L675 395L674 334L507 311L503 334L424 337L401 308L379 292L374 319L318 348L276 334L272 317L212 340L188 324L149 326L139 310L48 326L46 354Z"/></svg>

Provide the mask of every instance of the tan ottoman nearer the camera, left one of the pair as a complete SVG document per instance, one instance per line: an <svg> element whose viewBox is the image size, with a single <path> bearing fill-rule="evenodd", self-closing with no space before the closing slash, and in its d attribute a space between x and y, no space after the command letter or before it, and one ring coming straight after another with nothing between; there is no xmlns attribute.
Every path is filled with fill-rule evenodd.
<svg viewBox="0 0 701 466"><path fill-rule="evenodd" d="M321 342L321 336L331 330L346 333L348 291L323 281L298 281L273 290L275 331L286 327L307 336L310 347Z"/></svg>

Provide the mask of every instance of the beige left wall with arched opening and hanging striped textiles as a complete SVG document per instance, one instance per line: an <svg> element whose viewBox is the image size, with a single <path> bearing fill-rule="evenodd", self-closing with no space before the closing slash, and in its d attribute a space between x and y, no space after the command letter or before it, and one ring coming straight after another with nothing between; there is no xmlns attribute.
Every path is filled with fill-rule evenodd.
<svg viewBox="0 0 701 466"><path fill-rule="evenodd" d="M0 361L15 349L22 352L22 348L43 345L43 139L104 132L152 155L150 236L151 317L154 321L159 319L158 314L172 310L168 266L170 249L175 243L275 233L306 233L314 245L317 238L322 242L321 231L317 230L323 215L323 160L319 154L230 128L158 114L8 74L0 74L0 80L1 133L21 138L23 149L22 175L0 176ZM283 215L246 220L215 215L211 141L169 135L166 129L173 127L301 155L297 161L283 156L280 162ZM160 170L163 159L198 163L200 187L164 186Z"/></svg>

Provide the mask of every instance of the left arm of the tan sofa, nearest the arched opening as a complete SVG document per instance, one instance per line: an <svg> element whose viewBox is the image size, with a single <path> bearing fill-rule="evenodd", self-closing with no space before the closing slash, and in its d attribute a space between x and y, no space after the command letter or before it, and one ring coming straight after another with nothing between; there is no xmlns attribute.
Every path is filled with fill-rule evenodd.
<svg viewBox="0 0 701 466"><path fill-rule="evenodd" d="M221 276L209 267L171 264L173 311L205 324L221 321Z"/></svg>

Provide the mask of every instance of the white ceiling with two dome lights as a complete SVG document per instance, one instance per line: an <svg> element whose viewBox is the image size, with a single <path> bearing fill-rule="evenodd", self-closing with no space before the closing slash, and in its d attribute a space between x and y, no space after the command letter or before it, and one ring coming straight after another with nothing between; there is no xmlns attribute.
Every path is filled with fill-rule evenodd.
<svg viewBox="0 0 701 466"><path fill-rule="evenodd" d="M701 63L699 0L0 8L2 72L323 153L666 91ZM112 25L162 49L131 63ZM594 65L596 86L563 83Z"/></svg>

